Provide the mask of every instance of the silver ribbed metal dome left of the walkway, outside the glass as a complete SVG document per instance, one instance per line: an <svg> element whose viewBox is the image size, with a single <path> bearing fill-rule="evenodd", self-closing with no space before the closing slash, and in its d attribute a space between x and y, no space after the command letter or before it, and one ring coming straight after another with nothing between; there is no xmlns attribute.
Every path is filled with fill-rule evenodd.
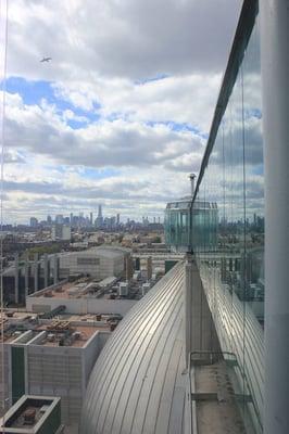
<svg viewBox="0 0 289 434"><path fill-rule="evenodd" d="M92 370L81 434L184 432L184 265L128 312Z"/></svg>

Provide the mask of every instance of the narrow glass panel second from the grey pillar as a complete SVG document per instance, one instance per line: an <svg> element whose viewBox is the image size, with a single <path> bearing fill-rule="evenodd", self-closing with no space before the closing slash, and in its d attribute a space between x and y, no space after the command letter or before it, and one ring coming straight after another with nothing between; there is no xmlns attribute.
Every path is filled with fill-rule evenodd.
<svg viewBox="0 0 289 434"><path fill-rule="evenodd" d="M244 282L241 264L244 258L244 166L243 166L243 105L242 105L242 68L239 69L229 101L229 212L228 212L228 248L226 264L226 280L231 293L231 311L229 318L231 353L238 360L239 387L236 393L241 395L240 408L244 416L246 395L244 381Z"/></svg>

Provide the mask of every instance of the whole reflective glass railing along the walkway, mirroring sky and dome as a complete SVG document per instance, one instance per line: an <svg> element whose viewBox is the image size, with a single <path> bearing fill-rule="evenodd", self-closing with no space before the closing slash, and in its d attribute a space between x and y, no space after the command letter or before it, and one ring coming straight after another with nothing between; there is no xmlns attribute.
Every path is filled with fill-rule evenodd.
<svg viewBox="0 0 289 434"><path fill-rule="evenodd" d="M192 244L223 352L234 353L263 421L264 170L257 2L241 15L200 170ZM248 418L248 400L243 401Z"/></svg>

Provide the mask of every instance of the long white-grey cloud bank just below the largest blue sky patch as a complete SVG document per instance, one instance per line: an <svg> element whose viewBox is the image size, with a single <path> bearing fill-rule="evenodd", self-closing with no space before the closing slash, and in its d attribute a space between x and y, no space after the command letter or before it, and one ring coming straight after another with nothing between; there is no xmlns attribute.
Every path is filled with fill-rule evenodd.
<svg viewBox="0 0 289 434"><path fill-rule="evenodd" d="M26 105L12 95L7 107L7 145L46 155L55 164L98 168L160 166L190 150L203 152L204 140L197 133L172 131L166 125L116 119L75 130L65 123L71 118L67 111L62 116L53 105Z"/></svg>

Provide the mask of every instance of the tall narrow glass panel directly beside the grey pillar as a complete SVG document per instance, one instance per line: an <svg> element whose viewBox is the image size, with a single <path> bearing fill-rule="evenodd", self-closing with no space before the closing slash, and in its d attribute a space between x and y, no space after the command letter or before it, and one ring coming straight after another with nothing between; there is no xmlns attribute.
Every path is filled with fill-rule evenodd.
<svg viewBox="0 0 289 434"><path fill-rule="evenodd" d="M244 370L253 396L254 410L261 422L264 385L264 166L260 71L260 36L259 21L256 21L243 60L246 174L243 280L246 291Z"/></svg>

